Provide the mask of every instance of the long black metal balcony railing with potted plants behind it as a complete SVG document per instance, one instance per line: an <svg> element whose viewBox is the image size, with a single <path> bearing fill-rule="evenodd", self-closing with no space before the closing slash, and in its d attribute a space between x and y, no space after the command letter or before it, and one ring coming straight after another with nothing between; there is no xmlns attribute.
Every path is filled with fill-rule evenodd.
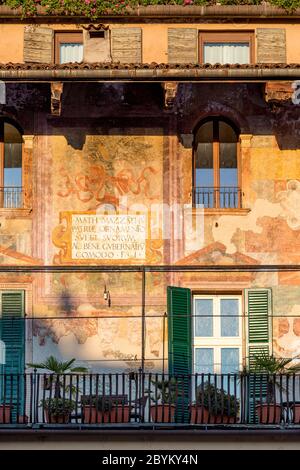
<svg viewBox="0 0 300 470"><path fill-rule="evenodd" d="M299 374L2 374L0 427L300 425Z"/></svg>

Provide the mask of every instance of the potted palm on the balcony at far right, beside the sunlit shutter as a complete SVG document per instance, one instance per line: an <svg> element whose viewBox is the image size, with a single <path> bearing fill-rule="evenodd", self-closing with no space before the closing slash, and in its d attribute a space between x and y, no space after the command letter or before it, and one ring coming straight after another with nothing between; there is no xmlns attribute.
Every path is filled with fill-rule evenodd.
<svg viewBox="0 0 300 470"><path fill-rule="evenodd" d="M261 352L254 356L254 361L249 369L249 373L258 374L256 383L262 390L266 389L265 399L256 404L256 415L262 424L279 424L282 417L282 406L276 403L276 389L285 392L285 387L278 378L278 374L290 375L299 372L300 365L291 366L291 363L297 359L278 358ZM259 377L259 379L258 379ZM292 405L294 421L300 422L300 405Z"/></svg>

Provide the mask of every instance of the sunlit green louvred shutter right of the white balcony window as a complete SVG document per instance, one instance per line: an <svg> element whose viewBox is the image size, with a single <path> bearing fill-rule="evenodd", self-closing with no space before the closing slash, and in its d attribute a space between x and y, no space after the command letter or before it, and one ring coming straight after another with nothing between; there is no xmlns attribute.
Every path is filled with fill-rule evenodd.
<svg viewBox="0 0 300 470"><path fill-rule="evenodd" d="M272 344L272 291L271 289L246 289L246 318L248 320L248 366L251 369L254 356L271 353ZM266 396L267 380L250 375L248 384L248 419L256 421L255 404Z"/></svg>

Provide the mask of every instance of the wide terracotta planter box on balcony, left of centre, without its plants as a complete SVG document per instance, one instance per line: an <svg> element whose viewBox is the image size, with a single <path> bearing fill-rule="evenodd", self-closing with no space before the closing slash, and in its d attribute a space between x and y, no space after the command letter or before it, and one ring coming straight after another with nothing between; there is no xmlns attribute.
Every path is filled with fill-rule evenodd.
<svg viewBox="0 0 300 470"><path fill-rule="evenodd" d="M128 423L130 406L113 406L109 411L97 410L95 406L84 405L83 422L85 424Z"/></svg>

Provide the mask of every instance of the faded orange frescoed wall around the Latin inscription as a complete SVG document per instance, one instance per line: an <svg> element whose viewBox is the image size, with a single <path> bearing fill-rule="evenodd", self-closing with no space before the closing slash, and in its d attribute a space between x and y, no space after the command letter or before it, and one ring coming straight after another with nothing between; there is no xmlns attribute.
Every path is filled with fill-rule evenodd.
<svg viewBox="0 0 300 470"><path fill-rule="evenodd" d="M69 86L60 118L49 117L49 103L42 100L31 111L25 99L19 109L11 109L19 122L26 113L24 134L32 136L32 159L25 170L32 175L32 200L26 213L1 210L2 264L234 267L299 263L300 148L294 148L298 130L289 125L298 107L290 104L280 114L289 140L277 131L279 118L265 102L260 85L180 85L178 114L163 110L157 99L159 85L151 87L140 91L139 84L130 85L138 99L128 106L116 98L117 93L122 96L123 85L110 90L104 85L76 85L73 90ZM37 93L43 95L44 90ZM85 106L83 97L87 96L89 105ZM243 207L232 213L210 210L202 214L201 237L193 250L184 231L182 238L175 237L177 222L166 207L191 204L193 148L183 145L181 135L191 134L210 114L224 115L241 130ZM140 216L143 211L151 217L151 208L159 204L166 207L152 227L154 232L149 232L149 219L133 223L131 232L126 232L131 223L127 218L122 227L103 219L101 230L106 238L99 239L100 219L94 218L108 218L115 210L126 217ZM82 217L80 223L78 217ZM168 230L162 220L168 222ZM84 235L86 258L74 256L78 233ZM127 243L120 251L123 257L105 257L111 248L103 248L104 242L107 246ZM136 248L143 243L144 247ZM35 273L21 283L12 275L2 275L1 282L3 289L15 286L28 292L26 308L33 316L27 328L28 361L55 354L76 357L99 371L140 366L141 273ZM161 370L166 359L167 285L195 291L271 287L274 351L298 353L300 278L296 272L148 273L148 370ZM103 299L105 287L110 306Z"/></svg>

